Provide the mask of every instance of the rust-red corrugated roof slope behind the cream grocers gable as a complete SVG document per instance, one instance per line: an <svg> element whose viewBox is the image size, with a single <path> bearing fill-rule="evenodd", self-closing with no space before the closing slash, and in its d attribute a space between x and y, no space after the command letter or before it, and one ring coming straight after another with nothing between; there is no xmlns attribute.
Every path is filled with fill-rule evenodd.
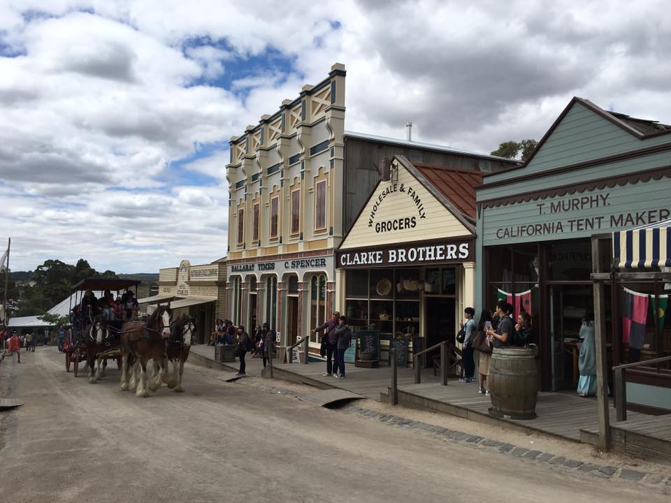
<svg viewBox="0 0 671 503"><path fill-rule="evenodd" d="M457 210L475 218L475 186L482 184L482 173L474 170L412 163Z"/></svg>

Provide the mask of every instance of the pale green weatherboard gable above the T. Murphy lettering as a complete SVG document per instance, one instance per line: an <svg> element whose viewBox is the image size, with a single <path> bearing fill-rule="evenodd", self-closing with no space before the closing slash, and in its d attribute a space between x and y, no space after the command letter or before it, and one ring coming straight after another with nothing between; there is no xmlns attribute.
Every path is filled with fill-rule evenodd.
<svg viewBox="0 0 671 503"><path fill-rule="evenodd" d="M486 182L508 180L669 142L669 136L640 140L584 105L575 103L528 166L491 175Z"/></svg>

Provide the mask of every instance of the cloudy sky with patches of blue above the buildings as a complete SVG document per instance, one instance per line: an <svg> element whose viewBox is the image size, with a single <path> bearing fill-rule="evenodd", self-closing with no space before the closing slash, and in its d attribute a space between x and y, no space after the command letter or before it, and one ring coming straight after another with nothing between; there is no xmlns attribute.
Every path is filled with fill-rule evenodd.
<svg viewBox="0 0 671 503"><path fill-rule="evenodd" d="M0 251L226 255L228 141L347 68L345 129L489 153L581 96L671 122L664 1L0 0Z"/></svg>

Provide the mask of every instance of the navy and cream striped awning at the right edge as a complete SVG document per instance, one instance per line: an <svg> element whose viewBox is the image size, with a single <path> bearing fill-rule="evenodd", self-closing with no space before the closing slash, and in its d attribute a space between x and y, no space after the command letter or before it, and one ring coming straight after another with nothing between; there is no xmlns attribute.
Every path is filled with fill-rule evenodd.
<svg viewBox="0 0 671 503"><path fill-rule="evenodd" d="M671 267L671 219L613 233L620 269Z"/></svg>

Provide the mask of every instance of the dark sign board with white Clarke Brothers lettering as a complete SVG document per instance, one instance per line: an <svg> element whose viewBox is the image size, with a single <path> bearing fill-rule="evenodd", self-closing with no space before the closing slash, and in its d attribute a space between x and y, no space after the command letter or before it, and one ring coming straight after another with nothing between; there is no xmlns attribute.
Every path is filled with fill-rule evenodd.
<svg viewBox="0 0 671 503"><path fill-rule="evenodd" d="M371 268L471 262L475 256L473 243L473 238L466 237L337 250L335 267Z"/></svg>

